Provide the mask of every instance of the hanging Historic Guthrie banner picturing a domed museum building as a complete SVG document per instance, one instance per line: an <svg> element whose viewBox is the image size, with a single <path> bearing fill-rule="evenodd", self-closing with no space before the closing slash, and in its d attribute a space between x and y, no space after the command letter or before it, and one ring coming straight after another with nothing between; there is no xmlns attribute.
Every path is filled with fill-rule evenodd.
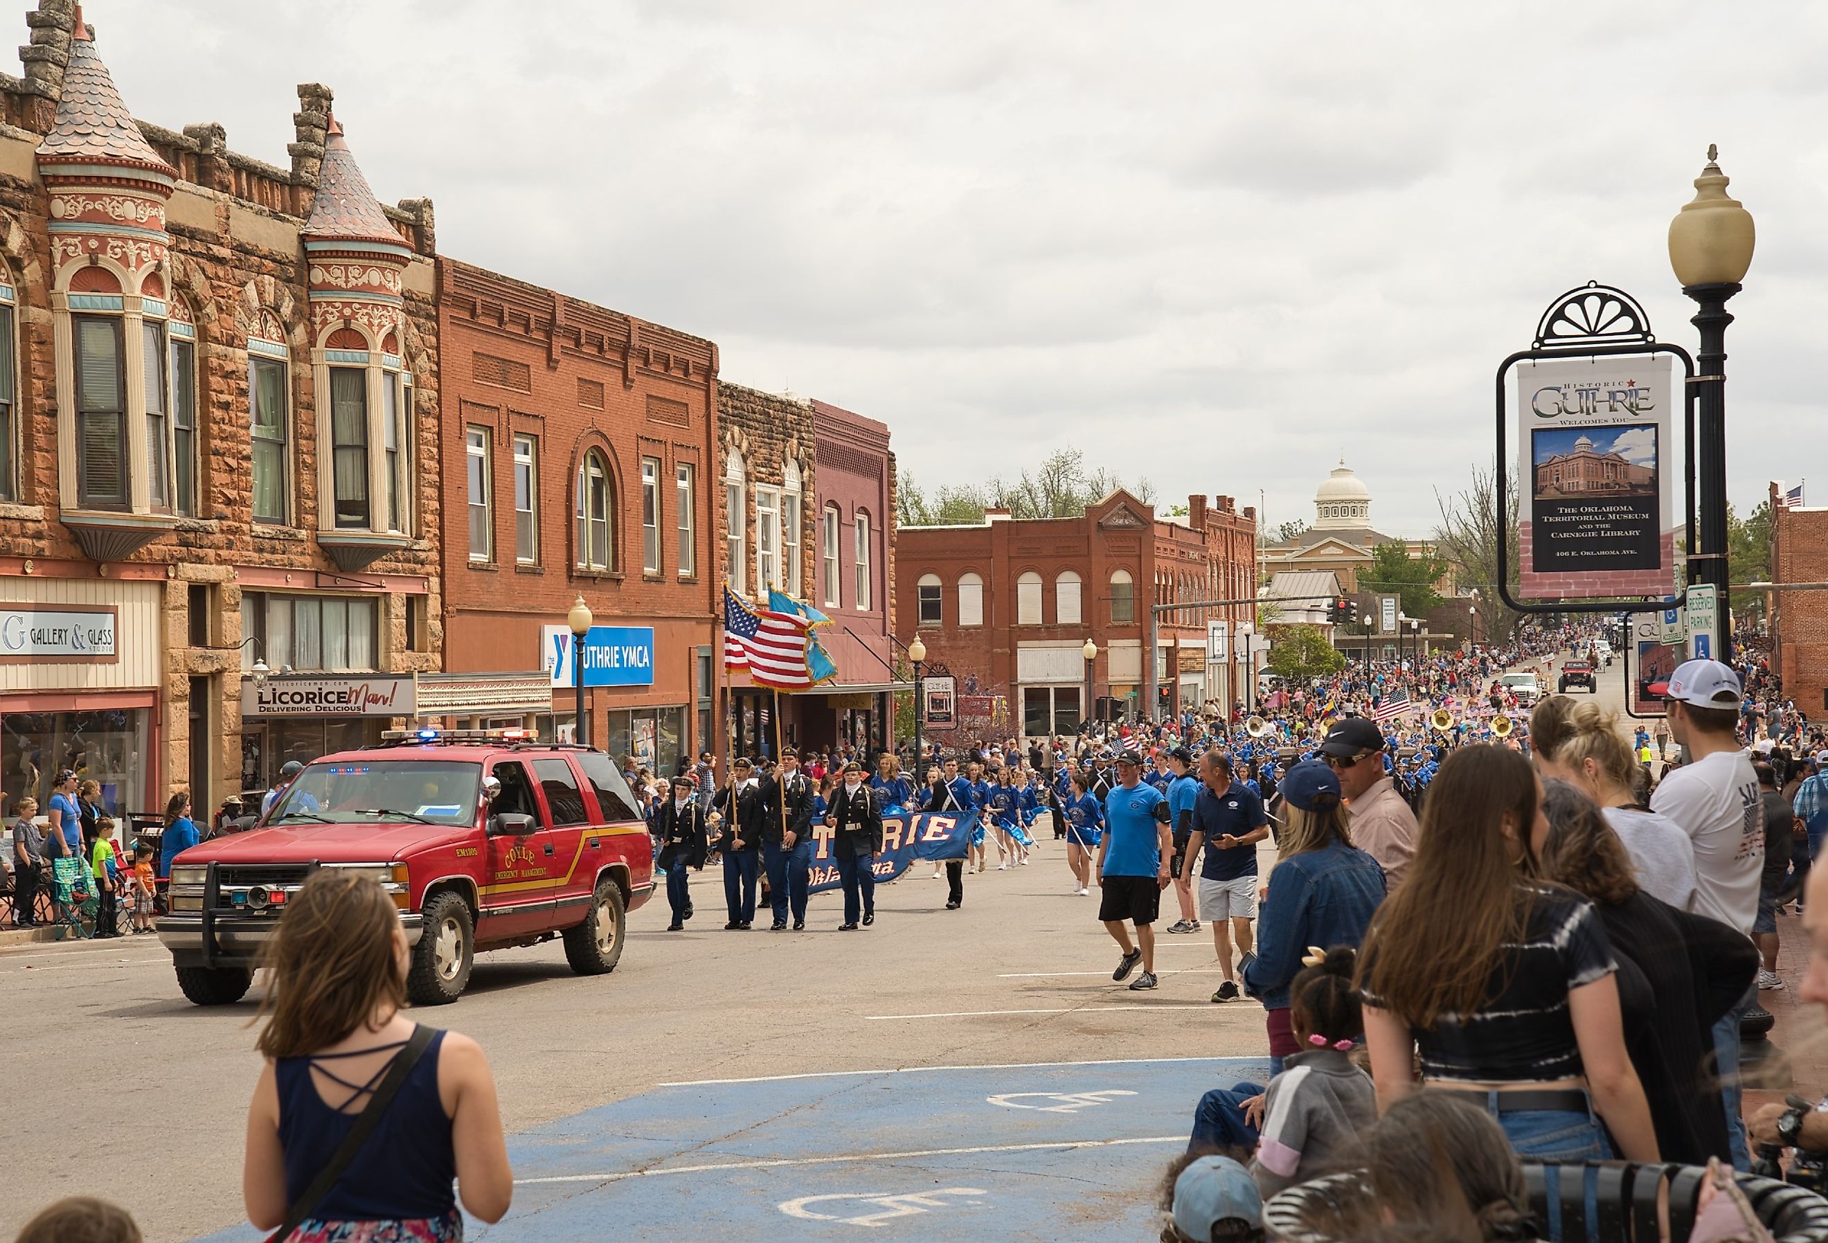
<svg viewBox="0 0 1828 1243"><path fill-rule="evenodd" d="M1523 594L1674 590L1669 358L1523 362L1517 408Z"/></svg>

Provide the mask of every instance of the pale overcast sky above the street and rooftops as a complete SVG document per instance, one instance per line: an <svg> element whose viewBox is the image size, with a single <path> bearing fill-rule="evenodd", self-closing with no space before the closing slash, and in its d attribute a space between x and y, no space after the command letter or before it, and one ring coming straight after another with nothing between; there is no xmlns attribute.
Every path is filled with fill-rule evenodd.
<svg viewBox="0 0 1828 1243"><path fill-rule="evenodd" d="M1561 291L1620 285L1693 347L1665 234L1718 143L1759 225L1729 492L1828 503L1828 5L84 11L135 115L283 166L324 82L446 254L881 419L927 488L1071 442L1164 503L1261 490L1274 525L1344 453L1404 536L1490 459L1493 369Z"/></svg>

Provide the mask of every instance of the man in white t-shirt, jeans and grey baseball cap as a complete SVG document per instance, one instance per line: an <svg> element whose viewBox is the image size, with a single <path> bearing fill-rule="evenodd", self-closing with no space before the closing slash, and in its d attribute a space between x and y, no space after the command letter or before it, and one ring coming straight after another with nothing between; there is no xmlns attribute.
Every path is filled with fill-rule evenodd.
<svg viewBox="0 0 1828 1243"><path fill-rule="evenodd" d="M1669 675L1663 700L1669 733L1684 748L1687 762L1663 775L1651 795L1651 810L1674 821L1695 848L1689 910L1749 938L1759 918L1759 877L1764 870L1764 804L1751 757L1738 744L1738 709L1744 702L1738 675L1718 660L1684 662ZM1757 985L1713 1029L1727 1139L1738 1170L1751 1164L1738 1113L1738 1022L1755 998Z"/></svg>

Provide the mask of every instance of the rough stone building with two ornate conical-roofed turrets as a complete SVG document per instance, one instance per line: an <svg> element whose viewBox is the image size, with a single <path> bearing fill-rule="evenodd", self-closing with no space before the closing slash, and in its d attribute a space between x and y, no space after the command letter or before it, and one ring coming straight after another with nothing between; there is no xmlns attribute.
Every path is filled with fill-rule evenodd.
<svg viewBox="0 0 1828 1243"><path fill-rule="evenodd" d="M278 168L135 122L68 0L27 20L0 75L0 793L71 766L115 812L214 802L375 738L439 667L431 205L377 201L322 86Z"/></svg>

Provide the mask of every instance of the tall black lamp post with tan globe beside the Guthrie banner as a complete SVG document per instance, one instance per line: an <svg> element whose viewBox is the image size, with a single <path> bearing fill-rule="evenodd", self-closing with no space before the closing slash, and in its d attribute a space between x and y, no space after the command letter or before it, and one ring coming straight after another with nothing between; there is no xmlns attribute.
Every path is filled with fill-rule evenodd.
<svg viewBox="0 0 1828 1243"><path fill-rule="evenodd" d="M1700 375L1695 459L1698 472L1700 532L1691 548L1691 581L1715 587L1715 632L1709 636L1715 660L1733 660L1733 618L1727 607L1726 565L1726 325L1733 322L1727 298L1740 291L1740 280L1751 267L1757 239L1751 212L1726 196L1727 177L1716 165L1718 152L1707 148L1707 166L1695 179L1695 201L1684 203L1669 221L1669 265L1682 282L1682 292L1695 300L1695 324L1700 329L1700 351L1695 366Z"/></svg>

